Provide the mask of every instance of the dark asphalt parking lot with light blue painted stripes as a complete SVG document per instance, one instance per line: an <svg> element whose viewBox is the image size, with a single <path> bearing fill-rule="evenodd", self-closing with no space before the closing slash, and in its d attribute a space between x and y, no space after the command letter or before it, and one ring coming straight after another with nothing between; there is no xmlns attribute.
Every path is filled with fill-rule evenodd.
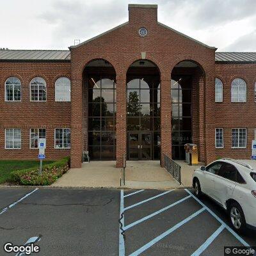
<svg viewBox="0 0 256 256"><path fill-rule="evenodd" d="M256 246L255 231L232 234L225 211L191 192L1 188L0 255L15 255L6 242L31 237L40 246L33 255L219 256L224 246Z"/></svg>

